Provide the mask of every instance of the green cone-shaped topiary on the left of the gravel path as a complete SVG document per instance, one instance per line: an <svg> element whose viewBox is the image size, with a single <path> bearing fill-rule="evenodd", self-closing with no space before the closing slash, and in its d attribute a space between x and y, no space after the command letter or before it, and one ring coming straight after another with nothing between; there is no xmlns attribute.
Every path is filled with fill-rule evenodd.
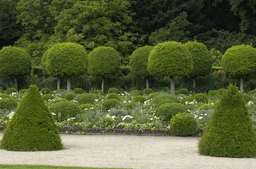
<svg viewBox="0 0 256 169"><path fill-rule="evenodd" d="M54 119L38 88L31 85L20 101L0 144L10 151L51 151L62 149Z"/></svg>

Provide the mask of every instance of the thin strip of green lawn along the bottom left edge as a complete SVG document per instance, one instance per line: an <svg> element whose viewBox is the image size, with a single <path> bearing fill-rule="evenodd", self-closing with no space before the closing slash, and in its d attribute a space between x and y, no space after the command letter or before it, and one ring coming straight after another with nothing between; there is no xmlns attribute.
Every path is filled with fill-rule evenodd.
<svg viewBox="0 0 256 169"><path fill-rule="evenodd" d="M41 166L41 165L0 164L0 169L123 169L123 168L93 168L93 167L76 167L76 166Z"/></svg>

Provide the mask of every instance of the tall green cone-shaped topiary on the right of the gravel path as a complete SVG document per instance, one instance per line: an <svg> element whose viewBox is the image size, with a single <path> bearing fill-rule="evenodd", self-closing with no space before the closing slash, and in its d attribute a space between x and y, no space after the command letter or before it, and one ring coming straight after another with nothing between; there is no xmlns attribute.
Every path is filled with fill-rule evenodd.
<svg viewBox="0 0 256 169"><path fill-rule="evenodd" d="M214 157L256 157L256 132L237 87L231 85L221 96L198 149Z"/></svg>

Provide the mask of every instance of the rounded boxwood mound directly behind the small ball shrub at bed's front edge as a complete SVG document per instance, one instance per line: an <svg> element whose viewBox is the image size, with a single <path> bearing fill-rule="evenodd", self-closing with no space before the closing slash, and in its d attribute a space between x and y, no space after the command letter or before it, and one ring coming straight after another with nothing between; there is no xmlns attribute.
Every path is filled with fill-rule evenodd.
<svg viewBox="0 0 256 169"><path fill-rule="evenodd" d="M177 113L187 112L186 108L179 103L165 103L157 107L155 115L160 117L163 121L168 122Z"/></svg>

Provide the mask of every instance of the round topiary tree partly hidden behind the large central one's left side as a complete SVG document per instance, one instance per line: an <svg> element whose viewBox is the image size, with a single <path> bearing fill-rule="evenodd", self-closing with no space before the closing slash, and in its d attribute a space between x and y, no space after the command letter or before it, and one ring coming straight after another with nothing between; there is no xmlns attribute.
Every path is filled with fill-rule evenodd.
<svg viewBox="0 0 256 169"><path fill-rule="evenodd" d="M152 46L137 48L130 57L131 73L135 76L145 77L146 88L149 88L148 77L150 74L148 73L148 56L152 49Z"/></svg>

